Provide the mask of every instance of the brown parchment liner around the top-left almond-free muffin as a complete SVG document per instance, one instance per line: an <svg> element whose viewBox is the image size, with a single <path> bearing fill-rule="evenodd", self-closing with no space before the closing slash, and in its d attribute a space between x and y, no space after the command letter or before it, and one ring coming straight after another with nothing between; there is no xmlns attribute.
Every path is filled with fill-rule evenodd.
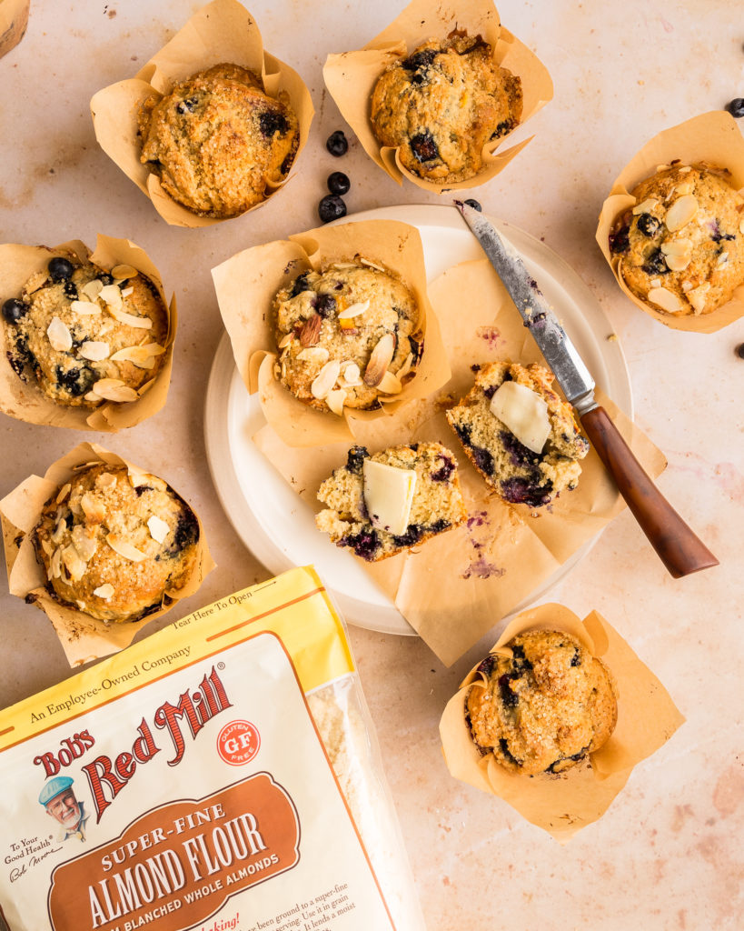
<svg viewBox="0 0 744 931"><path fill-rule="evenodd" d="M265 92L273 98L285 90L299 121L299 143L293 169L307 142L314 111L310 91L284 61L264 51L256 20L237 0L213 0L202 7L135 77L100 90L90 101L90 112L100 147L135 182L140 191L172 226L211 226L224 219L200 217L166 194L159 179L140 162L137 134L140 103L153 91L165 96L179 81L220 62L242 65L260 74ZM267 196L245 212L261 207L291 178L267 188ZM243 216L243 214L239 214Z"/></svg>

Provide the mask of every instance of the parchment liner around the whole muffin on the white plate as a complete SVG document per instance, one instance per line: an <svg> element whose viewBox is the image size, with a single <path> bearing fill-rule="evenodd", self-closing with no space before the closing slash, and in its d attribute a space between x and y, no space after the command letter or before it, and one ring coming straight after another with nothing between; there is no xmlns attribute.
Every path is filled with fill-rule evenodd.
<svg viewBox="0 0 744 931"><path fill-rule="evenodd" d="M381 263L411 290L421 314L424 333L416 374L398 395L380 396L378 411L344 409L342 417L315 411L289 393L273 375L276 340L272 298L303 268L316 270L332 262L350 262L359 253ZM367 220L340 226L321 226L233 255L212 269L219 310L233 344L235 364L248 391L260 392L266 420L290 446L317 446L351 441L362 425L400 410L411 400L425 398L445 384L450 371L437 319L426 287L419 230L408 223Z"/></svg>

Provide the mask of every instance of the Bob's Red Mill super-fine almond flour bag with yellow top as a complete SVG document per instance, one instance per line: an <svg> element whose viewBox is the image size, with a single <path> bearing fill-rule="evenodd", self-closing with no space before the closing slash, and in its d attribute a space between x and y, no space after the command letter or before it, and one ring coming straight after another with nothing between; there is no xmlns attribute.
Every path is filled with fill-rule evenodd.
<svg viewBox="0 0 744 931"><path fill-rule="evenodd" d="M423 931L311 568L1 712L0 780L10 931Z"/></svg>

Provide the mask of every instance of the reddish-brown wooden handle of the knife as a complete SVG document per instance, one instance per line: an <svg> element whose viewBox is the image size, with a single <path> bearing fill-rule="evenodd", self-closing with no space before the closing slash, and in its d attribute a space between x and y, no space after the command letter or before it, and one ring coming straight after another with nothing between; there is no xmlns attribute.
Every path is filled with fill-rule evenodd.
<svg viewBox="0 0 744 931"><path fill-rule="evenodd" d="M591 445L671 575L676 579L717 566L718 560L708 547L645 474L604 408L592 408L580 419Z"/></svg>

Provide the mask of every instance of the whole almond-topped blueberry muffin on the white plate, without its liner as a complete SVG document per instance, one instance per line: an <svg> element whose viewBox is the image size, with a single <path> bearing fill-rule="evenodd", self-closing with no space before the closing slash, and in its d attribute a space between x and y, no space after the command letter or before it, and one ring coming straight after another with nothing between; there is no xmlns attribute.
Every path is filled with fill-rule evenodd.
<svg viewBox="0 0 744 931"><path fill-rule="evenodd" d="M273 315L276 375L318 411L377 408L419 361L416 300L398 277L359 256L302 272L276 295Z"/></svg>

